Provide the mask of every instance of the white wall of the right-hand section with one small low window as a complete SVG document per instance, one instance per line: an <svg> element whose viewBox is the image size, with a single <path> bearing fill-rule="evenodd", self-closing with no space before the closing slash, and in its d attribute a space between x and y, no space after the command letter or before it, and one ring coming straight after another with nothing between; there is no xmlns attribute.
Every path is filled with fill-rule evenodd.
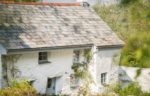
<svg viewBox="0 0 150 96"><path fill-rule="evenodd" d="M97 84L100 89L103 88L101 85L101 73L107 72L107 84L115 83L118 81L118 65L120 60L120 48L106 48L99 49L97 56ZM114 60L115 59L115 60ZM102 90L100 90L102 91Z"/></svg>

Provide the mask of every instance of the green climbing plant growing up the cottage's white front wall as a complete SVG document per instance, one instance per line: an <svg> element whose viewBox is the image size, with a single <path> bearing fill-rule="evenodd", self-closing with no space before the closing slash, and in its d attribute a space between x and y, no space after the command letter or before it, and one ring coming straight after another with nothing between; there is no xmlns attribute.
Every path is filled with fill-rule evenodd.
<svg viewBox="0 0 150 96"><path fill-rule="evenodd" d="M92 59L91 50L84 50L84 61L72 65L75 78L79 78L82 86L79 88L78 96L90 96L90 84L93 83L92 76L89 72L89 64Z"/></svg>

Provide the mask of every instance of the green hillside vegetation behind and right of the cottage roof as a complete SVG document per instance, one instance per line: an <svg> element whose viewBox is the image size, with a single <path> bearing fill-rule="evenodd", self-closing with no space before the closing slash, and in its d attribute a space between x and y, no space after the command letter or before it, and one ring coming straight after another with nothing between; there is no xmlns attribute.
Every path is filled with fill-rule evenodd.
<svg viewBox="0 0 150 96"><path fill-rule="evenodd" d="M126 43L121 64L150 68L150 1L122 0L118 5L95 5L94 10Z"/></svg>

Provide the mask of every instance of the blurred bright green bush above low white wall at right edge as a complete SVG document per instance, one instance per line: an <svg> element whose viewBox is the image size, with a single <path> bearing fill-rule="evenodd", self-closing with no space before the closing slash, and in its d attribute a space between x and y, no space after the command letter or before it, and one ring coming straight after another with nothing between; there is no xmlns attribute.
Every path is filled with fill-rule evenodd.
<svg viewBox="0 0 150 96"><path fill-rule="evenodd" d="M150 33L133 35L122 50L121 63L133 67L150 67Z"/></svg>

